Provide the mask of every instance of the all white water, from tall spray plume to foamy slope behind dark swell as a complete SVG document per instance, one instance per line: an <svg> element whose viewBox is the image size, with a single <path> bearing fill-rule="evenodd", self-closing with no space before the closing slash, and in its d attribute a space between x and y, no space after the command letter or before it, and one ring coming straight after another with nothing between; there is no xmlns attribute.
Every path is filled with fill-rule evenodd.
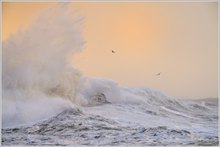
<svg viewBox="0 0 220 147"><path fill-rule="evenodd" d="M82 75L69 63L85 44L81 24L82 17L71 16L68 5L57 5L3 42L3 128L31 126L78 108L123 126L168 126L217 135L216 105Z"/></svg>

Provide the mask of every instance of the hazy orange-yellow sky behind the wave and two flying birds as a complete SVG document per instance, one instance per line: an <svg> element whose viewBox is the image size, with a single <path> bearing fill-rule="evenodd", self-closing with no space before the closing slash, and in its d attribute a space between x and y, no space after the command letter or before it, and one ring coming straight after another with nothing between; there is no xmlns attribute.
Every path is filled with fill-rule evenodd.
<svg viewBox="0 0 220 147"><path fill-rule="evenodd" d="M51 5L56 3L3 2L3 41L28 28ZM217 2L83 2L69 7L84 16L86 45L71 60L84 75L159 89L176 98L218 96Z"/></svg>

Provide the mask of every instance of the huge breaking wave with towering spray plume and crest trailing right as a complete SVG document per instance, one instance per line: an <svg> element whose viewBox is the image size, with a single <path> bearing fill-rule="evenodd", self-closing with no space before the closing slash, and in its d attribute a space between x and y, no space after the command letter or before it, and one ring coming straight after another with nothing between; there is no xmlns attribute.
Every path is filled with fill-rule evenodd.
<svg viewBox="0 0 220 147"><path fill-rule="evenodd" d="M160 106L176 114L193 113L193 103L159 90L84 76L70 63L84 49L83 17L70 12L68 5L50 7L29 28L3 42L3 127L32 124L69 108L110 103L142 104L153 114L161 113ZM210 109L204 104L199 108Z"/></svg>

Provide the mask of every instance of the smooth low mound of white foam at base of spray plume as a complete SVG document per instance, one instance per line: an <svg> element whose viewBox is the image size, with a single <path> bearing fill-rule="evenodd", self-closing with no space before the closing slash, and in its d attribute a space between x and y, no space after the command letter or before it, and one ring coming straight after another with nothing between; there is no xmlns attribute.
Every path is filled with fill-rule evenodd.
<svg viewBox="0 0 220 147"><path fill-rule="evenodd" d="M32 125L55 116L65 109L75 109L72 103L59 97L15 101L4 99L3 104L3 128Z"/></svg>

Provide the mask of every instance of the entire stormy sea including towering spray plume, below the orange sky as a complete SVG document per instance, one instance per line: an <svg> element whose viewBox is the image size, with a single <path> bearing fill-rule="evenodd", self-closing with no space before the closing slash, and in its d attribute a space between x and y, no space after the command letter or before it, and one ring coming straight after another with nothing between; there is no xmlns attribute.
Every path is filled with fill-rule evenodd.
<svg viewBox="0 0 220 147"><path fill-rule="evenodd" d="M219 144L217 98L125 87L70 64L86 44L70 11L49 7L3 42L3 146Z"/></svg>

